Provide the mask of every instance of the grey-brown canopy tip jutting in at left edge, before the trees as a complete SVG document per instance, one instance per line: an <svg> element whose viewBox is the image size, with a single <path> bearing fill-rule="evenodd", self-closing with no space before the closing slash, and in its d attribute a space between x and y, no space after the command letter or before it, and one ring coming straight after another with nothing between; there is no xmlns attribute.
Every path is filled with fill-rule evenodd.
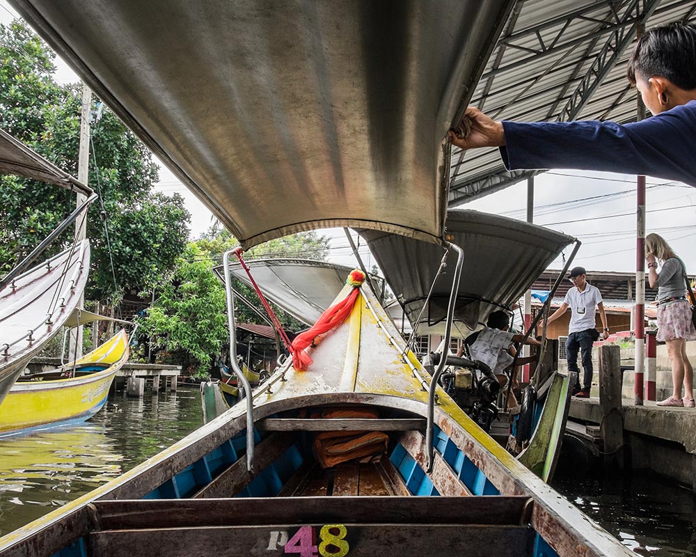
<svg viewBox="0 0 696 557"><path fill-rule="evenodd" d="M0 174L16 174L90 196L92 190L31 148L0 130Z"/></svg>

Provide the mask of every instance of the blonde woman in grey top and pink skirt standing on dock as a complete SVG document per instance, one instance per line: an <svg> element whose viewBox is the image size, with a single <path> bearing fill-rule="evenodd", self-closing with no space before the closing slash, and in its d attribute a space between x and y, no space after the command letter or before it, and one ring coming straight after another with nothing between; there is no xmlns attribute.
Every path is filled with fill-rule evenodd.
<svg viewBox="0 0 696 557"><path fill-rule="evenodd" d="M658 406L694 406L694 370L686 356L686 341L696 340L691 306L686 299L686 266L665 239L657 234L645 237L645 260L650 288L657 292L657 340L664 340L672 363L674 392ZM657 272L658 261L661 269ZM684 398L681 398L681 385Z"/></svg>

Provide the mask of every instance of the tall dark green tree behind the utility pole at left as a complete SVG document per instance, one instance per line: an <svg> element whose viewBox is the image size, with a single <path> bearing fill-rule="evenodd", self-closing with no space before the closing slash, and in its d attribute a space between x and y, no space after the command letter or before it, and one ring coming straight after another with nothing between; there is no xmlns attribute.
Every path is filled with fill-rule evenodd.
<svg viewBox="0 0 696 557"><path fill-rule="evenodd" d="M0 25L0 127L77 176L81 87L54 80L54 59L26 24ZM88 183L100 201L88 213L87 295L118 301L172 267L187 242L190 215L181 196L152 192L152 154L108 109L92 127L91 143ZM74 210L75 197L16 176L0 180L0 272L6 272ZM72 235L66 231L46 256L64 249Z"/></svg>

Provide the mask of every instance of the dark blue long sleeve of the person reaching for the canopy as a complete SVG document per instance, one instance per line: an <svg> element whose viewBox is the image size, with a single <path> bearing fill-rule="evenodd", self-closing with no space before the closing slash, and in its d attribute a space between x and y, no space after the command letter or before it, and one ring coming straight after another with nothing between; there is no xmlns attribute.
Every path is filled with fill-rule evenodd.
<svg viewBox="0 0 696 557"><path fill-rule="evenodd" d="M696 186L696 100L640 122L503 122L508 170L578 168Z"/></svg>

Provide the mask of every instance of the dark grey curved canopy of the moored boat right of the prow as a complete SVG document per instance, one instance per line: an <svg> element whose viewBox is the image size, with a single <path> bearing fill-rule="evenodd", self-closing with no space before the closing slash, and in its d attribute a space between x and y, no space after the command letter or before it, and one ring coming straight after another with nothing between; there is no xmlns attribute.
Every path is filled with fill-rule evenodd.
<svg viewBox="0 0 696 557"><path fill-rule="evenodd" d="M510 309L575 238L496 214L450 209L445 237L464 250L452 334L480 327L496 308ZM454 256L438 276L445 250L393 234L360 230L418 334L443 334ZM432 295L426 306L428 292ZM424 309L425 307L425 309Z"/></svg>

